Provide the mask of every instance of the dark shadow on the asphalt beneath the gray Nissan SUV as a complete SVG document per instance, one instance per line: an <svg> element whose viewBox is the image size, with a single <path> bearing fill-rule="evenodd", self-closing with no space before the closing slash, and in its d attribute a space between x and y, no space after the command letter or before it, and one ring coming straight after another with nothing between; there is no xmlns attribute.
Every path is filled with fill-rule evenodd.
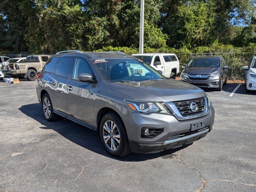
<svg viewBox="0 0 256 192"><path fill-rule="evenodd" d="M120 161L128 161L128 162L137 162L137 161L145 161L153 158L172 158L175 156L174 152L177 152L187 146L182 146L180 148L175 148L171 150L166 150L164 152L159 152L155 154L136 154L131 153L123 158L115 158L106 152L102 141L100 140L99 132L90 130L84 126L81 126L75 122L67 120L66 118L60 117L56 122L48 122L45 120L42 108L40 103L23 105L19 108L19 110L38 121L40 124L44 125L44 127L40 127L42 129L52 129L58 132L63 137L67 138L71 142L82 146L90 151L96 152L98 154L104 155L109 158L113 158Z"/></svg>

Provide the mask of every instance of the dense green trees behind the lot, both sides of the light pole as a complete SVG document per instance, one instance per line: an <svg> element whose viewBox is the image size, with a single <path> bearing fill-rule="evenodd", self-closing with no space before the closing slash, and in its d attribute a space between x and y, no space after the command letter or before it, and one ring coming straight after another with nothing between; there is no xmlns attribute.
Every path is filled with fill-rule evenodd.
<svg viewBox="0 0 256 192"><path fill-rule="evenodd" d="M152 49L256 43L256 0L145 0ZM138 48L140 0L2 0L0 50Z"/></svg>

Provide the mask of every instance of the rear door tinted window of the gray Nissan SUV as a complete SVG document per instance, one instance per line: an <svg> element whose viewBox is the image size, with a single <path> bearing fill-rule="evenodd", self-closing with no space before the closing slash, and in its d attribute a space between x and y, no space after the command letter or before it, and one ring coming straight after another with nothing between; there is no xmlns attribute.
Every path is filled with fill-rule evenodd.
<svg viewBox="0 0 256 192"><path fill-rule="evenodd" d="M55 71L56 75L68 78L70 67L72 66L74 57L61 57Z"/></svg>

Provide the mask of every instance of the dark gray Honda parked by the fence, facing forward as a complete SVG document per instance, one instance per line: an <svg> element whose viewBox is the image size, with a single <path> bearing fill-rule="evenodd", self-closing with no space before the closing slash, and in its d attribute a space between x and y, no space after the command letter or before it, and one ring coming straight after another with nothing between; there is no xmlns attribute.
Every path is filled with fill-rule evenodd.
<svg viewBox="0 0 256 192"><path fill-rule="evenodd" d="M182 68L180 80L198 87L221 91L227 82L228 66L220 56L194 57Z"/></svg>

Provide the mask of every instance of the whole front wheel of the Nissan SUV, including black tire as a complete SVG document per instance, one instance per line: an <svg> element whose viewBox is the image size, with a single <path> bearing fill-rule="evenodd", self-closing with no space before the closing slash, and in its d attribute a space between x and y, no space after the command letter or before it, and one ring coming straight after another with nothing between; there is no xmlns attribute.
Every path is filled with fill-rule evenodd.
<svg viewBox="0 0 256 192"><path fill-rule="evenodd" d="M131 152L124 124L113 112L103 116L100 122L100 138L112 156L123 157Z"/></svg>

